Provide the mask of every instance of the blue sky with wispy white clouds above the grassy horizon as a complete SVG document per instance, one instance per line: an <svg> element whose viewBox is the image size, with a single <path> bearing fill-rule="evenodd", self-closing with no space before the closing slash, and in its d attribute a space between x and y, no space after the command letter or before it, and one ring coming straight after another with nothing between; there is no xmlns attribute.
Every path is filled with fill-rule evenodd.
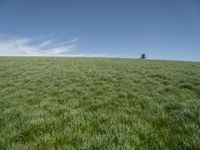
<svg viewBox="0 0 200 150"><path fill-rule="evenodd" d="M200 61L200 0L0 0L0 56Z"/></svg>

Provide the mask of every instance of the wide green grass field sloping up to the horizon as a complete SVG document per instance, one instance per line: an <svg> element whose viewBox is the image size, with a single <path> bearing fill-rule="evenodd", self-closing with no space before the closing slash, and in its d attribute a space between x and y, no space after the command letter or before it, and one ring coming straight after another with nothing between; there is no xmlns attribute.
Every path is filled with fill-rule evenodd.
<svg viewBox="0 0 200 150"><path fill-rule="evenodd" d="M200 149L200 63L0 57L0 149Z"/></svg>

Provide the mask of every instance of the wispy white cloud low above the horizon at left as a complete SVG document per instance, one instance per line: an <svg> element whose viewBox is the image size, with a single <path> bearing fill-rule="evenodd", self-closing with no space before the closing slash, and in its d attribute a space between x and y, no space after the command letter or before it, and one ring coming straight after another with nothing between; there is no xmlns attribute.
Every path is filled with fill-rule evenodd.
<svg viewBox="0 0 200 150"><path fill-rule="evenodd" d="M1 56L54 56L73 51L79 38L60 41L55 37L37 39L0 34Z"/></svg>

